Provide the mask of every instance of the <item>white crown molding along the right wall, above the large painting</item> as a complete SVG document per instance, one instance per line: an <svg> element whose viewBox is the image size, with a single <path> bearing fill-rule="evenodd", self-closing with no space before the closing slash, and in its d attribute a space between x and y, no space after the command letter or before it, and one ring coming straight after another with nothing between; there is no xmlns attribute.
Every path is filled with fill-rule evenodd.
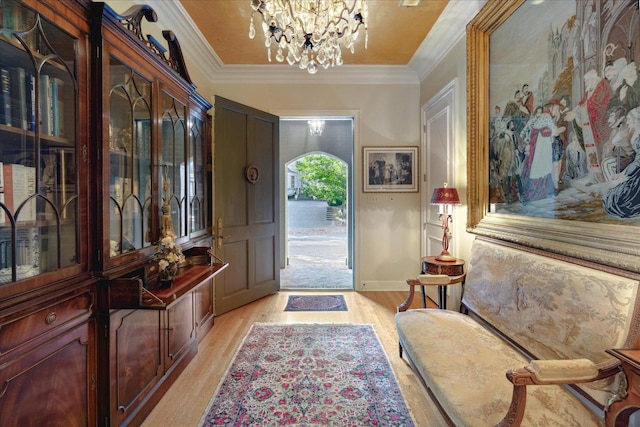
<svg viewBox="0 0 640 427"><path fill-rule="evenodd" d="M487 0L450 0L447 7L409 61L423 81L451 49L466 35L467 24Z"/></svg>

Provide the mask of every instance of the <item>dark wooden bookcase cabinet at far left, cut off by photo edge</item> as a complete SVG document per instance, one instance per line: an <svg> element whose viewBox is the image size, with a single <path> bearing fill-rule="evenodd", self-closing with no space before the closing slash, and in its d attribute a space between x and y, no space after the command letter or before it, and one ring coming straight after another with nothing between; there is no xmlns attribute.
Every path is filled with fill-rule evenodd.
<svg viewBox="0 0 640 427"><path fill-rule="evenodd" d="M0 424L94 426L90 2L0 2Z"/></svg>

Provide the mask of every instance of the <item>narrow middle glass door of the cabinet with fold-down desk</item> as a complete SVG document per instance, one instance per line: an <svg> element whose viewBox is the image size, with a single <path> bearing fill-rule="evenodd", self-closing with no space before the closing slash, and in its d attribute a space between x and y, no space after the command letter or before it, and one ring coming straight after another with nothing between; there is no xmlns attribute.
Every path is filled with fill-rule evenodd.
<svg viewBox="0 0 640 427"><path fill-rule="evenodd" d="M186 111L185 104L162 93L162 208L168 206L177 237L187 235Z"/></svg>

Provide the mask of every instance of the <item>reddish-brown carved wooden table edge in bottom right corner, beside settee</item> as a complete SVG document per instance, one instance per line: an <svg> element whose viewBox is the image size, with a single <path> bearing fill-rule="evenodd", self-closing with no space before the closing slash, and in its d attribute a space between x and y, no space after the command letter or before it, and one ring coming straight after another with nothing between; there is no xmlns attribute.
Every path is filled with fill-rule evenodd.
<svg viewBox="0 0 640 427"><path fill-rule="evenodd" d="M640 350L612 349L607 353L622 362L622 371L627 377L626 393L622 400L609 406L606 416L607 427L637 425L640 420ZM625 390L622 390L625 392ZM633 418L631 418L633 417ZM635 418L635 420L634 420ZM635 421L631 423L631 421Z"/></svg>

